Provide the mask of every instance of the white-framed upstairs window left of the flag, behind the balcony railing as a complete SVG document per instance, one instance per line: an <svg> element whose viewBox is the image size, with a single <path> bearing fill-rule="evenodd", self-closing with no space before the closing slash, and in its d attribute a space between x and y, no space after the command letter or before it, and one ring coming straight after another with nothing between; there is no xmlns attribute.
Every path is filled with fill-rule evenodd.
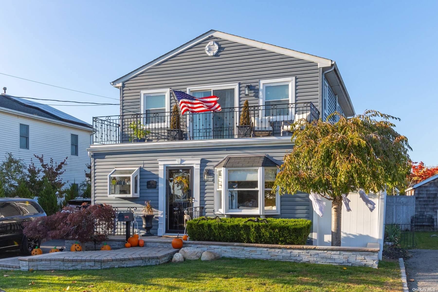
<svg viewBox="0 0 438 292"><path fill-rule="evenodd" d="M168 127L170 123L170 89L140 91L140 109L143 124L149 127Z"/></svg>

